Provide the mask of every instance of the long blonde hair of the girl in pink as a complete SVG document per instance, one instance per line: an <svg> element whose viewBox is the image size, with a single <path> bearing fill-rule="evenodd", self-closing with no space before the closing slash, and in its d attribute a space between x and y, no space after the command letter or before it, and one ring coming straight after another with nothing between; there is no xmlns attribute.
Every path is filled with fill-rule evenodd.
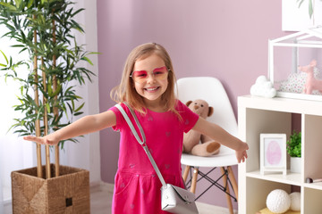
<svg viewBox="0 0 322 214"><path fill-rule="evenodd" d="M134 110L140 111L143 114L146 113L143 98L134 89L134 82L133 79L130 78L130 75L133 71L135 62L138 59L148 57L152 54L157 54L157 56L159 56L165 62L166 68L170 70L167 79L168 86L165 90L165 93L161 97L161 101L165 105L166 111L173 111L175 114L179 115L175 110L176 98L174 95L174 84L176 82L176 78L174 75L174 67L165 48L156 43L139 45L131 51L124 65L121 84L112 89L110 94L111 98L116 103L127 102Z"/></svg>

